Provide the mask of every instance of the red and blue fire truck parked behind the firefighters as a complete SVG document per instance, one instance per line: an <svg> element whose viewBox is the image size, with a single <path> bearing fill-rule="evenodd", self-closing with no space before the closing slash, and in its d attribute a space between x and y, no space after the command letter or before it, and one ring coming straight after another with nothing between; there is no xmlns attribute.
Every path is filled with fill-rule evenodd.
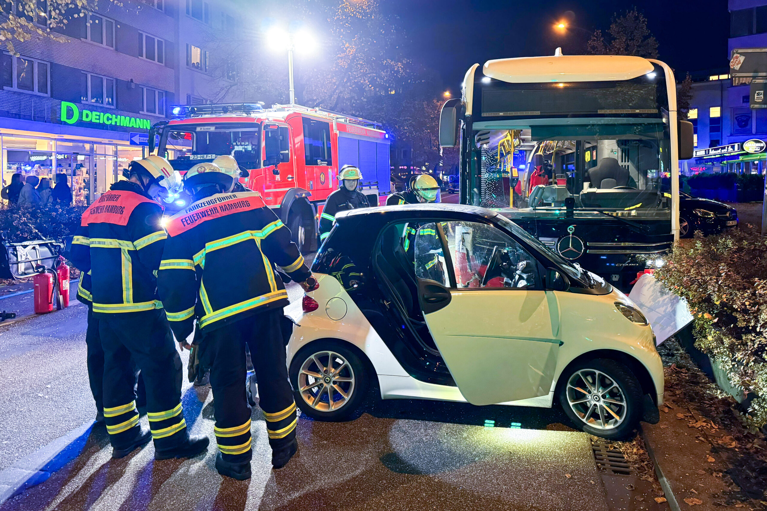
<svg viewBox="0 0 767 511"><path fill-rule="evenodd" d="M234 157L246 175L240 181L261 193L301 252L318 249L318 219L337 190L341 167L359 167L361 191L371 206L390 191L390 137L371 120L262 103L179 106L173 116L151 128L150 153L159 136L157 154L181 173L223 154ZM176 209L188 206L189 199L176 199Z"/></svg>

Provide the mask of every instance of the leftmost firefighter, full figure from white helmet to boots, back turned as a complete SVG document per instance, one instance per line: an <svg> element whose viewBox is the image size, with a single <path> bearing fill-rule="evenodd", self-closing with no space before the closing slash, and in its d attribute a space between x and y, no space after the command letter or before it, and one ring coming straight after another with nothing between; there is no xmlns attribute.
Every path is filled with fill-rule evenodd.
<svg viewBox="0 0 767 511"><path fill-rule="evenodd" d="M181 359L157 299L166 232L156 198L180 176L156 155L133 161L88 209L72 242L72 262L91 273L93 317L104 348L104 421L112 457L154 440L156 460L193 457L207 437L189 437L181 407ZM131 358L146 381L150 430L140 427Z"/></svg>

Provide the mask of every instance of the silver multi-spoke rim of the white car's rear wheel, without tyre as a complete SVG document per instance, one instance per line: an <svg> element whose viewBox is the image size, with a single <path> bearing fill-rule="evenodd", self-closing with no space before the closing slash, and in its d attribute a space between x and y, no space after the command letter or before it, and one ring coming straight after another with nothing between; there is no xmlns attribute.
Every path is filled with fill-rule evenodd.
<svg viewBox="0 0 767 511"><path fill-rule="evenodd" d="M297 390L314 410L339 410L354 394L354 369L341 354L319 351L301 364Z"/></svg>

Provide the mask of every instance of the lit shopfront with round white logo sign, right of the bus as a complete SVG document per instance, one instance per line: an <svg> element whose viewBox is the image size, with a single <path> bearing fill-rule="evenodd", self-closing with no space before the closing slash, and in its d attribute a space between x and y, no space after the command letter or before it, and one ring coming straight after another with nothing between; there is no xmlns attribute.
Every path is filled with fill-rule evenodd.
<svg viewBox="0 0 767 511"><path fill-rule="evenodd" d="M694 161L687 163L688 173L736 172L765 173L767 143L752 139L729 143L726 146L699 149L693 153Z"/></svg>

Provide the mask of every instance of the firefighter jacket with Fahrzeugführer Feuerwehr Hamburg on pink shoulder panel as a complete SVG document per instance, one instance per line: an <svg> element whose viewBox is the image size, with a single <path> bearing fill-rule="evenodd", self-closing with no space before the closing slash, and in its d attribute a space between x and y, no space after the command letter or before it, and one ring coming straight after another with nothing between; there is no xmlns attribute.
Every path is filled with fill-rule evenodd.
<svg viewBox="0 0 767 511"><path fill-rule="evenodd" d="M291 233L257 192L218 193L171 217L157 273L176 338L204 334L288 305L276 263L296 282L311 275Z"/></svg>

